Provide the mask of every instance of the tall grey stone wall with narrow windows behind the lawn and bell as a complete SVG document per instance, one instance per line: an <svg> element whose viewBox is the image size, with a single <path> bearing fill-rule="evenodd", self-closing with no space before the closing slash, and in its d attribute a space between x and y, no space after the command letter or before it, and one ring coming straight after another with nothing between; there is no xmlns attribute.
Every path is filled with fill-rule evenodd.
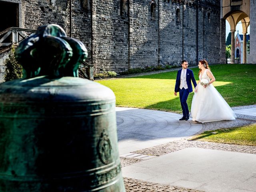
<svg viewBox="0 0 256 192"><path fill-rule="evenodd" d="M22 27L59 24L88 49L94 72L225 62L220 0L21 0ZM196 3L199 2L197 5Z"/></svg>

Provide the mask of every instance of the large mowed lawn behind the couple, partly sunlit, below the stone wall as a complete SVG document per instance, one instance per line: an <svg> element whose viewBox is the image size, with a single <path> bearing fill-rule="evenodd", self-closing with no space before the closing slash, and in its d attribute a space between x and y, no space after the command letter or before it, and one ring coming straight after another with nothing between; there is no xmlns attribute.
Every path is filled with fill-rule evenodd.
<svg viewBox="0 0 256 192"><path fill-rule="evenodd" d="M256 103L256 65L220 64L210 66L213 85L232 106ZM198 81L198 68L192 68ZM96 81L112 89L116 106L146 108L181 113L179 95L174 96L177 71L161 74ZM194 87L193 87L194 88ZM189 94L190 108L194 92Z"/></svg>

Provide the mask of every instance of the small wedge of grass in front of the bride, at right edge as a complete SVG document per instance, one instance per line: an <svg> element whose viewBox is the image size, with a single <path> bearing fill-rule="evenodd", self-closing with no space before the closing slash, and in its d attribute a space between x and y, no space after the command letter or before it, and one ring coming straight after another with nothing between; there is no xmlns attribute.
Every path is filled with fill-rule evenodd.
<svg viewBox="0 0 256 192"><path fill-rule="evenodd" d="M206 131L194 136L192 140L256 146L256 124Z"/></svg>

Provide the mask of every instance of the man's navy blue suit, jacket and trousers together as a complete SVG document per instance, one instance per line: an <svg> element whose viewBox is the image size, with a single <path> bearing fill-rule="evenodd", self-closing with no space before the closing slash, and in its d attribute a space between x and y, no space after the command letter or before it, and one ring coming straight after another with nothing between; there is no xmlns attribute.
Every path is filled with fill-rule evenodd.
<svg viewBox="0 0 256 192"><path fill-rule="evenodd" d="M180 92L180 104L181 104L181 107L182 107L183 117L186 117L186 116L189 117L187 98L188 98L188 94L193 91L191 81L193 82L194 87L196 87L196 80L194 78L193 71L190 70L190 69L187 69L186 83L188 85L188 88L187 89L184 89L184 88L180 89L181 71L182 71L182 69L178 70L174 91L175 92Z"/></svg>

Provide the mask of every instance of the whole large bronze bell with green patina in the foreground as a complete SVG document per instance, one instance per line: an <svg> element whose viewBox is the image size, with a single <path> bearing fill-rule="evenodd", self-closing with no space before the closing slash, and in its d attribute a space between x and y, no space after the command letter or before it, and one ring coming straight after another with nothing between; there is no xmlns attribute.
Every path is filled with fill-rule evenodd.
<svg viewBox="0 0 256 192"><path fill-rule="evenodd" d="M16 57L25 78L0 84L0 192L124 192L114 93L76 77L85 46L50 24Z"/></svg>

